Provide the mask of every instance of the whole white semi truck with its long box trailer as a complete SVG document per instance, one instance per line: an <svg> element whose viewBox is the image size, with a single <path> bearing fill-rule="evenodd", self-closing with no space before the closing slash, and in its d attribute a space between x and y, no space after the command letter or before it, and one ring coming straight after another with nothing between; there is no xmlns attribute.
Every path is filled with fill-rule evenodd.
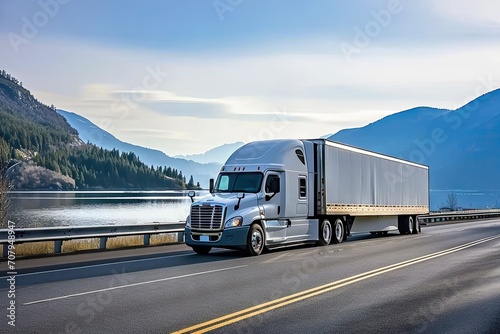
<svg viewBox="0 0 500 334"><path fill-rule="evenodd" d="M417 215L429 212L427 166L326 139L248 143L210 181L205 197L189 192L185 241L199 254L416 234Z"/></svg>

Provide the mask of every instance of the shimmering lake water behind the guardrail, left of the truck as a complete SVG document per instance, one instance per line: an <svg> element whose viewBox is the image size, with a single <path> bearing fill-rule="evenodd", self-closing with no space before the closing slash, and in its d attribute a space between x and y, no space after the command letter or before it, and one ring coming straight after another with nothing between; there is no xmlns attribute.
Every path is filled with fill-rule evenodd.
<svg viewBox="0 0 500 334"><path fill-rule="evenodd" d="M197 192L198 195L198 192ZM13 191L17 227L125 225L185 221L187 191Z"/></svg>

